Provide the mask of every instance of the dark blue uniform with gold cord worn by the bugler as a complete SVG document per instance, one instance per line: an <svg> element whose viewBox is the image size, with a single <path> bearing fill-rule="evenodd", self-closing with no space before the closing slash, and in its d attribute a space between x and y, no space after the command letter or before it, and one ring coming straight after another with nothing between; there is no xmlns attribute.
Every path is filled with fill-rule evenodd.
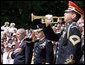
<svg viewBox="0 0 85 65"><path fill-rule="evenodd" d="M60 34L55 34L50 26L43 28L43 31L49 40L59 40L57 64L79 62L81 57L81 34L75 22L69 22Z"/></svg>

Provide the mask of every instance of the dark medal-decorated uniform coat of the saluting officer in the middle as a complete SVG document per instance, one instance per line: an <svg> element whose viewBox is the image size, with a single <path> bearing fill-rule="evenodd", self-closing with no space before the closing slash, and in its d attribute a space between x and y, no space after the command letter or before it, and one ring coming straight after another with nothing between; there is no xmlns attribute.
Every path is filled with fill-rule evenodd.
<svg viewBox="0 0 85 65"><path fill-rule="evenodd" d="M34 64L53 63L53 46L46 38L34 44Z"/></svg>

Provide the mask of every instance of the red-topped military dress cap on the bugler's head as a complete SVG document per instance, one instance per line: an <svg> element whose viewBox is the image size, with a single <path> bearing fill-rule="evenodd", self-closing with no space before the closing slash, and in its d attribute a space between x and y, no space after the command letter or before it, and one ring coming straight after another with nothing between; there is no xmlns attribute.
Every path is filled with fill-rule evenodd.
<svg viewBox="0 0 85 65"><path fill-rule="evenodd" d="M75 11L76 13L80 14L80 15L84 15L84 11L79 8L75 3L73 3L72 1L69 1L69 7L67 10L65 10L65 12L70 12L70 11Z"/></svg>

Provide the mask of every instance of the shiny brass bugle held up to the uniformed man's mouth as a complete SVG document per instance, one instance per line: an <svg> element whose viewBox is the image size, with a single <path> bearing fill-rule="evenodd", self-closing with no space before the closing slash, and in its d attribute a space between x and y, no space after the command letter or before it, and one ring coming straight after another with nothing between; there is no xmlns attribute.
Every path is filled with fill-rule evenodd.
<svg viewBox="0 0 85 65"><path fill-rule="evenodd" d="M53 16L52 17L52 22L44 22L45 19L48 19L47 17L45 16L35 16L33 13L31 13L31 21L35 20L35 19L41 19L41 23L58 23L59 22L59 19L64 19L64 17L57 17L57 16ZM53 22L54 19L57 19L56 22Z"/></svg>

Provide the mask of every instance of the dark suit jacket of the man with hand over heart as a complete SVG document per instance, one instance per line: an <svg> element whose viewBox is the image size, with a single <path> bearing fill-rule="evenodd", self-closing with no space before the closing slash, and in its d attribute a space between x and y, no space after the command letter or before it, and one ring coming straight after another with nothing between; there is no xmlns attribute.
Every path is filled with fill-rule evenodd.
<svg viewBox="0 0 85 65"><path fill-rule="evenodd" d="M17 49L18 43L15 45L15 49ZM33 44L31 39L24 39L19 48L21 48L20 52L14 54L12 53L12 58L14 58L14 64L30 64L32 59L32 50Z"/></svg>

